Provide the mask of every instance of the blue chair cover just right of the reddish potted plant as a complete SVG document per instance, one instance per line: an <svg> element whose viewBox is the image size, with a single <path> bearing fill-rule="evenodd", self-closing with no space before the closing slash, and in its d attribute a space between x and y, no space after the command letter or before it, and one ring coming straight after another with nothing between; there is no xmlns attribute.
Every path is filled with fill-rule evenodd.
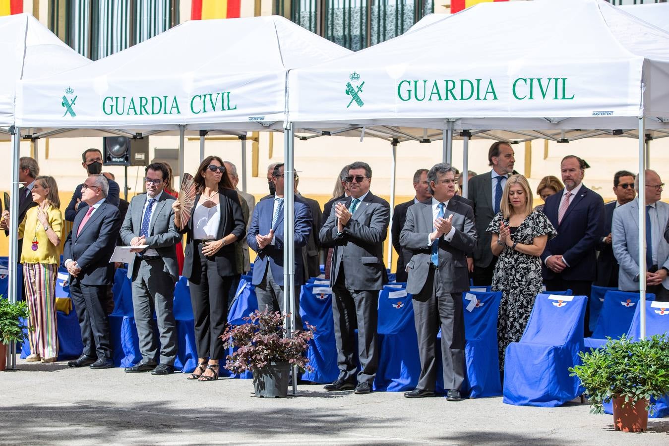
<svg viewBox="0 0 669 446"><path fill-rule="evenodd" d="M321 282L321 281L317 281ZM329 284L329 281L328 281ZM313 372L304 372L302 379L326 384L337 379L337 346L334 343L332 290L327 284L304 284L300 294L300 317L316 327L309 341L306 357Z"/></svg>

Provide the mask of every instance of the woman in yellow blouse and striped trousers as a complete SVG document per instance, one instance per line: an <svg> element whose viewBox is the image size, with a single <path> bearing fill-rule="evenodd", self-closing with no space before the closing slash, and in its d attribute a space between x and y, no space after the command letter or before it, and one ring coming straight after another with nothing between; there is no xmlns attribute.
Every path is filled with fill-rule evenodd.
<svg viewBox="0 0 669 446"><path fill-rule="evenodd" d="M63 216L60 212L58 186L54 177L37 177L31 191L37 206L25 213L19 225L23 237L23 284L30 309L30 356L28 361L56 362L58 335L56 334L56 276L60 263L60 237ZM3 213L3 226L9 213Z"/></svg>

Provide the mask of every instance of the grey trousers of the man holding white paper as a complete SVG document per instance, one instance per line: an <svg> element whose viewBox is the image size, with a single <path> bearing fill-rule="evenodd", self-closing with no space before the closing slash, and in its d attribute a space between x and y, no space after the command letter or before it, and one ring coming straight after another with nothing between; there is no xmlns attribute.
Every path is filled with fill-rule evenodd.
<svg viewBox="0 0 669 446"><path fill-rule="evenodd" d="M177 358L177 323L174 320L175 282L163 269L162 259L136 259L132 274L132 306L134 322L139 336L139 351L142 364L168 364L173 366ZM158 342L154 336L156 312L158 334L161 342L160 358Z"/></svg>

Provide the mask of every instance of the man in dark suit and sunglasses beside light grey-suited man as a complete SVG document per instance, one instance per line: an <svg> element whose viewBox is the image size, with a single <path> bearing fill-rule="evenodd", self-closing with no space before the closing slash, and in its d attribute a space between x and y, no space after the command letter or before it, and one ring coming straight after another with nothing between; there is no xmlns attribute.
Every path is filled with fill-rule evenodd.
<svg viewBox="0 0 669 446"><path fill-rule="evenodd" d="M634 179L636 175L628 171L618 171L613 176L613 193L615 201L604 205L604 233L599 236L597 241L597 280L595 285L610 288L618 288L618 261L613 255L611 245L611 223L613 221L613 211L625 203L634 200L636 192L634 191Z"/></svg>

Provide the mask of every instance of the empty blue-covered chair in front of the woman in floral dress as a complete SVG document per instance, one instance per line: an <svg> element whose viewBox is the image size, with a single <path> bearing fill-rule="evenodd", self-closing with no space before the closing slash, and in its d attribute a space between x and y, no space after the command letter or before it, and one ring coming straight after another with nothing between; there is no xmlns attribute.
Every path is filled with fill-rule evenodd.
<svg viewBox="0 0 669 446"><path fill-rule="evenodd" d="M537 295L520 342L506 348L504 403L557 407L583 393L578 378L569 376L567 369L579 364L583 350L587 297L565 298Z"/></svg>

